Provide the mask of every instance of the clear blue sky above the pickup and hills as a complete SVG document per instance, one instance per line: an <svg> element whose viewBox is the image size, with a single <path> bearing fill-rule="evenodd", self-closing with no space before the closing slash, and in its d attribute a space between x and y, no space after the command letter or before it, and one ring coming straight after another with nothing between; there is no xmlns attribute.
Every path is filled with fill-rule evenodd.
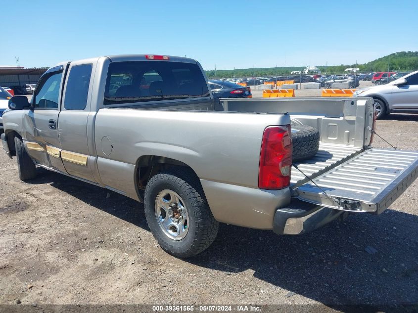
<svg viewBox="0 0 418 313"><path fill-rule="evenodd" d="M15 56L40 67L154 53L187 55L209 70L365 63L418 50L418 1L410 0L10 3L0 18L0 65L15 65Z"/></svg>

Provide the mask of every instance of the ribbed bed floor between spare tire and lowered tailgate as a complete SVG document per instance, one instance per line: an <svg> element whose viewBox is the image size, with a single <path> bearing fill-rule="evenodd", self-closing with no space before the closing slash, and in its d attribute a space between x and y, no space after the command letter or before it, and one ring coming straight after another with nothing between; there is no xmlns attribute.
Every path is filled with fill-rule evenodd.
<svg viewBox="0 0 418 313"><path fill-rule="evenodd" d="M320 142L319 151L313 158L295 162L295 164L312 179L347 161L361 151L363 149L352 145ZM308 180L295 167L292 167L291 175L290 182L293 188Z"/></svg>

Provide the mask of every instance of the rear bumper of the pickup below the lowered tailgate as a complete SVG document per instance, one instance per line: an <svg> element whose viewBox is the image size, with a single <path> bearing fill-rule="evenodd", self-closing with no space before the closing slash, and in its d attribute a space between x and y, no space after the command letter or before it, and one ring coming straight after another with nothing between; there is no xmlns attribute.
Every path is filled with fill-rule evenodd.
<svg viewBox="0 0 418 313"><path fill-rule="evenodd" d="M276 210L273 231L278 235L300 235L335 220L343 213L293 199L287 208Z"/></svg>

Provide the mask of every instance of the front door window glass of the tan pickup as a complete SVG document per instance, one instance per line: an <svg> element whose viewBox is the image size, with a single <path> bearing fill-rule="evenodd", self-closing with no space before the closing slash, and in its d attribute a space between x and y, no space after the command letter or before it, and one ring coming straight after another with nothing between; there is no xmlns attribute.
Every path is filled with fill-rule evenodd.
<svg viewBox="0 0 418 313"><path fill-rule="evenodd" d="M47 74L41 78L40 87L35 93L35 108L57 109L59 86L61 84L62 72Z"/></svg>

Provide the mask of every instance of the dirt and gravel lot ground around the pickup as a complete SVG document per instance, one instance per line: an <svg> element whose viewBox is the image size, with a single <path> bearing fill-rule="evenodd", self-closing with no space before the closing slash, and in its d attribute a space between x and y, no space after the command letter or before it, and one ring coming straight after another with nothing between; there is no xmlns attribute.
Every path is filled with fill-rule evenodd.
<svg viewBox="0 0 418 313"><path fill-rule="evenodd" d="M413 150L417 126L418 115L377 123ZM0 151L0 162L0 304L418 302L418 181L380 216L293 237L222 224L208 250L180 260L135 201L43 169L24 183L16 160Z"/></svg>

